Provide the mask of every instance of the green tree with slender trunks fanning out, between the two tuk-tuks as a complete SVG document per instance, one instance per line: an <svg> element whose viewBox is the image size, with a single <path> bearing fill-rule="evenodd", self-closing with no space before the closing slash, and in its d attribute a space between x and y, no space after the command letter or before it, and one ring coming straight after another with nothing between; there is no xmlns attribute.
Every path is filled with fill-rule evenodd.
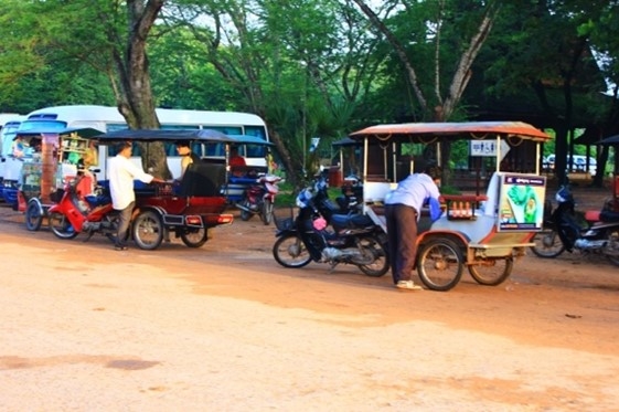
<svg viewBox="0 0 619 412"><path fill-rule="evenodd" d="M376 74L369 53L374 41L366 41L354 10L330 0L178 6L170 24L203 44L202 54L243 96L244 109L267 120L289 180L302 181L309 139L348 131L359 96Z"/></svg>

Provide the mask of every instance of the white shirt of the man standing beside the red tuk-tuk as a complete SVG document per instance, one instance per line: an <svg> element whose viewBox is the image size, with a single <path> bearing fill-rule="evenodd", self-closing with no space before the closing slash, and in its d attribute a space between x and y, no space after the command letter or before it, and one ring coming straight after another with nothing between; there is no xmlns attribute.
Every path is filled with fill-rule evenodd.
<svg viewBox="0 0 619 412"><path fill-rule="evenodd" d="M109 159L107 167L111 205L116 210L122 210L136 201L136 193L134 192L135 179L141 180L145 183L150 183L153 179L152 176L145 173L131 160L121 155Z"/></svg>

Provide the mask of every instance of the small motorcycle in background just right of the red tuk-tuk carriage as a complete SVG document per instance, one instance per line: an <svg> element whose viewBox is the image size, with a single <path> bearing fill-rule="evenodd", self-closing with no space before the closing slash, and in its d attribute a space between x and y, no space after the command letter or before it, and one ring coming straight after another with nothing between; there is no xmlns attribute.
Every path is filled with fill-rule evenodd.
<svg viewBox="0 0 619 412"><path fill-rule="evenodd" d="M241 220L244 222L252 219L254 214L259 214L264 224L273 221L273 210L275 207L275 196L279 192L277 183L280 177L265 175L256 180L256 184L249 186L245 190L245 197L235 205L241 209Z"/></svg>

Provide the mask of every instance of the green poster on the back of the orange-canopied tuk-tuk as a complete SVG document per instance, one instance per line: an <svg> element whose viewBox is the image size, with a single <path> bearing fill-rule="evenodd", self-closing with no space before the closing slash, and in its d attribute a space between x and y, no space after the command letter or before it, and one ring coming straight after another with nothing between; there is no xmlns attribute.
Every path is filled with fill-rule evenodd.
<svg viewBox="0 0 619 412"><path fill-rule="evenodd" d="M500 231L535 231L544 223L546 177L504 175L499 204Z"/></svg>

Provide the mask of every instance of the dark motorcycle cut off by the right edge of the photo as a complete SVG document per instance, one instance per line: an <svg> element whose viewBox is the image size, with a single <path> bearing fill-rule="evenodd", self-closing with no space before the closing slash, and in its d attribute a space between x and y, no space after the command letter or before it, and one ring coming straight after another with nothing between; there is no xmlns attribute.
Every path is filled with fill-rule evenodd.
<svg viewBox="0 0 619 412"><path fill-rule="evenodd" d="M533 237L533 253L540 257L556 257L574 250L583 254L599 254L619 266L619 212L602 210L585 212L585 223L576 219L575 201L567 187L561 188L557 207L545 220L544 229Z"/></svg>

